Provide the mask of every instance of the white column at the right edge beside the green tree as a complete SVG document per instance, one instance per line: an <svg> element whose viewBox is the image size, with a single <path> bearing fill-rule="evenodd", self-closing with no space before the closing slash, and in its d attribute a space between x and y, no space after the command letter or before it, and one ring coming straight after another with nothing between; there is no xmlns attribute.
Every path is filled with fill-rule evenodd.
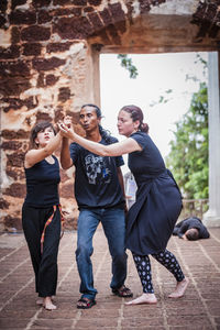
<svg viewBox="0 0 220 330"><path fill-rule="evenodd" d="M209 103L209 210L204 215L207 227L220 227L220 65L219 53L208 57Z"/></svg>

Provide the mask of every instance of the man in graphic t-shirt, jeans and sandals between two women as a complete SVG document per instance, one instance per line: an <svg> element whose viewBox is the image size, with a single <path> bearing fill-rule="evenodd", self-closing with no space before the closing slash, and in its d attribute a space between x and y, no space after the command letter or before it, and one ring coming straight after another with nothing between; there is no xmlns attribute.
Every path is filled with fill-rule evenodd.
<svg viewBox="0 0 220 330"><path fill-rule="evenodd" d="M65 119L70 124L70 118ZM69 122L68 122L69 121ZM100 125L101 111L95 105L81 107L79 122L86 132L86 139L101 144L116 143ZM94 286L91 255L92 238L101 222L112 257L112 278L110 287L119 297L132 297L125 287L127 253L124 248L124 187L120 166L123 158L98 156L77 143L69 145L63 138L61 163L64 169L75 165L75 197L79 208L77 222L76 261L80 276L81 297L77 308L87 309L96 305L97 289Z"/></svg>

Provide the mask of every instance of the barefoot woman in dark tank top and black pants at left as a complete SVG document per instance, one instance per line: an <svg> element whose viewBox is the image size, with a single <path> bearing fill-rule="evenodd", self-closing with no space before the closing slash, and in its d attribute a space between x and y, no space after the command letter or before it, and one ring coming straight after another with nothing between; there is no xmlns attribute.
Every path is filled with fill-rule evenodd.
<svg viewBox="0 0 220 330"><path fill-rule="evenodd" d="M24 158L26 197L22 226L35 273L36 304L48 310L56 309L52 296L57 286L62 215L59 165L53 152L61 141L61 134L56 134L52 123L40 122L31 131L30 150Z"/></svg>

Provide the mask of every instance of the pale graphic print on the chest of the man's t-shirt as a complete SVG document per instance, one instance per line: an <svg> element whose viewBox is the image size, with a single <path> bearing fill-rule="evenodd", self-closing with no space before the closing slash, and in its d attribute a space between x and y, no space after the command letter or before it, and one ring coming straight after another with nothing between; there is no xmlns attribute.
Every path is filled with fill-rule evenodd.
<svg viewBox="0 0 220 330"><path fill-rule="evenodd" d="M85 164L89 184L96 185L97 182L100 183L100 180L106 184L110 183L111 172L107 167L106 160L103 157L88 154L85 157Z"/></svg>

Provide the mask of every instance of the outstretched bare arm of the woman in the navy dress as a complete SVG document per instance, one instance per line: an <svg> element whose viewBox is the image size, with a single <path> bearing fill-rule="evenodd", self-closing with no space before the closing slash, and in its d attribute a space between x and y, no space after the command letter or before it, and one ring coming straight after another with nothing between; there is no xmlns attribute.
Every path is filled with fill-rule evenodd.
<svg viewBox="0 0 220 330"><path fill-rule="evenodd" d="M67 128L64 123L58 124L63 136L68 138L82 147L89 150L90 152L100 156L120 156L123 154L129 154L134 151L141 151L141 146L136 141L129 138L122 142L112 143L109 145L103 145L76 134L73 129Z"/></svg>

